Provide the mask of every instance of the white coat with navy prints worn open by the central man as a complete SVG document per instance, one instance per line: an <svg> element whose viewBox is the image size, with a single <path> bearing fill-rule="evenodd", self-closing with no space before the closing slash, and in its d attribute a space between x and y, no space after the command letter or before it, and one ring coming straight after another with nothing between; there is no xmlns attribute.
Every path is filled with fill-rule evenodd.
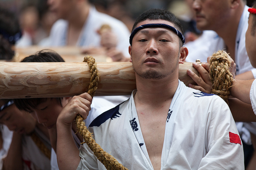
<svg viewBox="0 0 256 170"><path fill-rule="evenodd" d="M94 119L89 129L96 143L129 170L153 170L134 104L135 93ZM219 96L188 88L179 81L166 113L165 129L162 170L244 169L234 119ZM86 144L80 147L80 157L79 170L105 169Z"/></svg>

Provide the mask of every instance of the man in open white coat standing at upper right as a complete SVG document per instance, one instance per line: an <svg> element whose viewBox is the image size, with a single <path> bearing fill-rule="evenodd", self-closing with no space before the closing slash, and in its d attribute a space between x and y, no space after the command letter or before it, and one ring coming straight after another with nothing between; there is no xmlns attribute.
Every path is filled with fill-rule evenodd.
<svg viewBox="0 0 256 170"><path fill-rule="evenodd" d="M194 0L193 8L197 16L197 27L201 30L214 30L218 33L213 39L202 42L208 45L208 51L213 53L218 49L225 49L229 53L236 63L236 80L255 78L256 69L250 63L249 51L246 50L246 31L250 14L246 2L244 0ZM201 46L197 49L199 48ZM197 49L194 48L194 50ZM204 62L209 56L197 53L192 61L195 62L196 59L201 59ZM233 104L233 106L235 105ZM245 107L241 110L241 114L248 114ZM236 122L236 125L243 141L245 166L247 166L253 153L252 143L256 143L256 123ZM255 154L255 150L253 154Z"/></svg>

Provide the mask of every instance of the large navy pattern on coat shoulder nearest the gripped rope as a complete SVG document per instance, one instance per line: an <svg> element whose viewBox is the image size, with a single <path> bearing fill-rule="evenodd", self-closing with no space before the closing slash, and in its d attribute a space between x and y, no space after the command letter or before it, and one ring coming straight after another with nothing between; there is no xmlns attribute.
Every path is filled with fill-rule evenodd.
<svg viewBox="0 0 256 170"><path fill-rule="evenodd" d="M93 127L93 126L100 126L102 123L104 123L106 120L108 119L115 119L120 117L120 113L119 113L119 106L116 106L108 111L105 111L104 113L98 115L98 117L96 117L92 123L89 125L89 127Z"/></svg>

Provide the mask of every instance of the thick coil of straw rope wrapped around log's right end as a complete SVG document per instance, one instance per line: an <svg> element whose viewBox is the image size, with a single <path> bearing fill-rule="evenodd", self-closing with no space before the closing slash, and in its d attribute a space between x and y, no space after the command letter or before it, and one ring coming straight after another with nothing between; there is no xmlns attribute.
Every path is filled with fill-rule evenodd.
<svg viewBox="0 0 256 170"><path fill-rule="evenodd" d="M210 79L212 81L212 94L217 94L226 103L230 96L233 76L228 70L230 67L229 55L226 51L217 51L210 60Z"/></svg>

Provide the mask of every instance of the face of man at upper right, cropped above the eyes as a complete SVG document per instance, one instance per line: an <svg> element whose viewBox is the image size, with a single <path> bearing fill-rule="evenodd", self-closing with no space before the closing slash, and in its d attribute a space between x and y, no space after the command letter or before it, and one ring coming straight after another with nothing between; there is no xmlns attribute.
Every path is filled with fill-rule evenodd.
<svg viewBox="0 0 256 170"><path fill-rule="evenodd" d="M200 30L218 31L229 18L228 0L194 0L196 27Z"/></svg>

